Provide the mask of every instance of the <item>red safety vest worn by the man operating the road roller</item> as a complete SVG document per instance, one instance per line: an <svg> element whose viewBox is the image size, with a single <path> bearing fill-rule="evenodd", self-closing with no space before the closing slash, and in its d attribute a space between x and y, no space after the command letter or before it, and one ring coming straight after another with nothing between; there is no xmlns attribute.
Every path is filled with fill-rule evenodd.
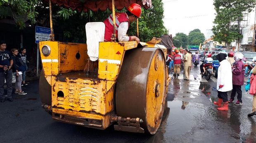
<svg viewBox="0 0 256 143"><path fill-rule="evenodd" d="M105 21L103 21L103 23L105 24L105 35L104 35L104 41L105 42L110 42L111 41L111 37L112 37L112 33L113 33L113 15L111 14ZM122 22L128 22L128 25L130 25L129 23L129 18L128 15L126 13L116 13L116 39L118 36L118 27L119 24Z"/></svg>

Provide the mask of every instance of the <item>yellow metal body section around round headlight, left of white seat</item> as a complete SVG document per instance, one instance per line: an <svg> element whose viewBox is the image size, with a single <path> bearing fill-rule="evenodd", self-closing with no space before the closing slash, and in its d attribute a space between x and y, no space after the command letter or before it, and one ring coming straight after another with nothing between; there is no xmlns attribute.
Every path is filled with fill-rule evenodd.
<svg viewBox="0 0 256 143"><path fill-rule="evenodd" d="M44 56L41 51L45 45L51 49L48 56ZM39 47L43 69L45 75L48 76L69 71L81 71L88 59L86 44L45 41L40 42ZM76 58L77 54L80 56L79 59Z"/></svg>

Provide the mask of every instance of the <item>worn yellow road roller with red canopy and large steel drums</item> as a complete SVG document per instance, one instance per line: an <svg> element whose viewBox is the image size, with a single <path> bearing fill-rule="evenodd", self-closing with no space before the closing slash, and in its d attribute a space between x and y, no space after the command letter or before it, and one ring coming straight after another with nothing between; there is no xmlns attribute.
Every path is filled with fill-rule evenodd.
<svg viewBox="0 0 256 143"><path fill-rule="evenodd" d="M112 7L114 2L119 4L116 7L128 7L128 1L136 0L110 2ZM142 0L138 4L143 6L145 1L151 2ZM50 10L51 2L65 1L50 0ZM109 0L78 3L83 6L83 2L90 2L92 7L96 6L93 2L102 2L102 9L106 9ZM113 8L112 11L114 14ZM157 38L139 44L102 42L95 38L102 39L102 32L97 32L103 29L101 25L86 24L87 37L94 37L90 42L88 38L87 44L54 41L53 33L50 41L39 43L43 64L39 82L42 107L59 122L95 129L114 124L119 131L155 134L166 107L170 82L166 48L157 44ZM92 51L96 56L90 56Z"/></svg>

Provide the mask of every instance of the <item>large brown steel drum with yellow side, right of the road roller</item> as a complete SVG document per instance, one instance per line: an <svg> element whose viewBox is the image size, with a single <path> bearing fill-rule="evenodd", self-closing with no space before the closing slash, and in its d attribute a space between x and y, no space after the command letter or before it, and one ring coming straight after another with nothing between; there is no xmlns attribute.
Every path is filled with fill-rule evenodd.
<svg viewBox="0 0 256 143"><path fill-rule="evenodd" d="M149 134L155 134L166 103L166 75L161 49L127 51L116 83L117 115L141 118L141 127Z"/></svg>

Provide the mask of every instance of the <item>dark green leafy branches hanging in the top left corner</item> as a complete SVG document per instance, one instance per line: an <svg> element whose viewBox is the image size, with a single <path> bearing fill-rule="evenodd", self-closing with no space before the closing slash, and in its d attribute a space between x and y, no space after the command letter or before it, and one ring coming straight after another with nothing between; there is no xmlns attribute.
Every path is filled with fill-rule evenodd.
<svg viewBox="0 0 256 143"><path fill-rule="evenodd" d="M39 0L0 0L0 17L12 17L19 28L23 29L28 20L36 23L38 12L35 9L38 2Z"/></svg>

